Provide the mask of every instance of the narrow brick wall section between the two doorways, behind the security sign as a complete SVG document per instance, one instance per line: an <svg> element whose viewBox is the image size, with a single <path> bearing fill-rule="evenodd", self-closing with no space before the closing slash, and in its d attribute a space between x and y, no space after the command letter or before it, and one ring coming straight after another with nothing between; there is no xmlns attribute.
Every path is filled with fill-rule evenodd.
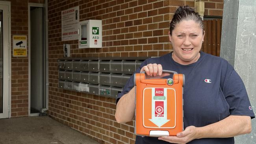
<svg viewBox="0 0 256 144"><path fill-rule="evenodd" d="M7 1L11 2L11 37L28 37L28 2L44 3L44 0ZM28 116L28 57L12 55L11 53L11 117Z"/></svg>

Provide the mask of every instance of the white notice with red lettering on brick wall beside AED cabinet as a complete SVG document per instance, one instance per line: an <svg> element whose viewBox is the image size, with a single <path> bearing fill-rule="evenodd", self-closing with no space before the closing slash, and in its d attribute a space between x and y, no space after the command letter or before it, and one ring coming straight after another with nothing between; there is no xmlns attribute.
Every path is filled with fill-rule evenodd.
<svg viewBox="0 0 256 144"><path fill-rule="evenodd" d="M61 41L78 39L79 6L61 11Z"/></svg>

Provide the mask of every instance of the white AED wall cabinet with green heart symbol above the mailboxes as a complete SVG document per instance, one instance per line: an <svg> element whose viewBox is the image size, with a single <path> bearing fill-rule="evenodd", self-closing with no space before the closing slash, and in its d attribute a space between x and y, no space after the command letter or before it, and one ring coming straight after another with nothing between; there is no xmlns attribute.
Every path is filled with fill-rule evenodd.
<svg viewBox="0 0 256 144"><path fill-rule="evenodd" d="M85 20L79 22L78 47L102 48L101 20Z"/></svg>

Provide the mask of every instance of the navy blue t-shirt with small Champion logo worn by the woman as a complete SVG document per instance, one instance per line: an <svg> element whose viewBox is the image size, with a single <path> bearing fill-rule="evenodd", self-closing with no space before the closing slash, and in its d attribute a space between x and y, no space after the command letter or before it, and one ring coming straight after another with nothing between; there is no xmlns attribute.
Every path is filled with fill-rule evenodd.
<svg viewBox="0 0 256 144"><path fill-rule="evenodd" d="M202 127L219 122L229 115L254 118L243 81L234 68L221 57L200 52L197 62L189 65L176 63L171 53L145 60L135 73L149 63L161 64L163 70L185 75L184 129L187 126ZM165 78L169 78L167 76ZM134 87L133 76L117 96L117 102ZM136 137L136 144L170 144L155 137ZM234 144L230 138L195 139L188 144Z"/></svg>

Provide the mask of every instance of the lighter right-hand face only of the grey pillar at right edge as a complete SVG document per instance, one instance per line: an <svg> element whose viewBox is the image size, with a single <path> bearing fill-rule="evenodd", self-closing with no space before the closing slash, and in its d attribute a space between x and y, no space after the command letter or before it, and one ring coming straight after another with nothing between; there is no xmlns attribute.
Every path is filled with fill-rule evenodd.
<svg viewBox="0 0 256 144"><path fill-rule="evenodd" d="M241 76L256 112L256 0L240 0L234 68ZM252 133L236 137L236 144L256 144L256 120Z"/></svg>

